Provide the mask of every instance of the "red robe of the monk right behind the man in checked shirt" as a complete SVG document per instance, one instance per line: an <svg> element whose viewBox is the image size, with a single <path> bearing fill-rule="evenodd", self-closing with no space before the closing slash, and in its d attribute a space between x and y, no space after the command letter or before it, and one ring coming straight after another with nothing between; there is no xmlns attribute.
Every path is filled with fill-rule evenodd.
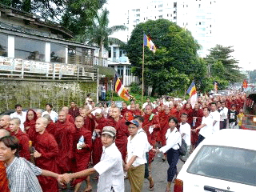
<svg viewBox="0 0 256 192"><path fill-rule="evenodd" d="M22 130L18 130L17 134L11 133L19 141L19 156L22 158L26 158L26 160L30 161L30 138L27 134L23 133Z"/></svg>

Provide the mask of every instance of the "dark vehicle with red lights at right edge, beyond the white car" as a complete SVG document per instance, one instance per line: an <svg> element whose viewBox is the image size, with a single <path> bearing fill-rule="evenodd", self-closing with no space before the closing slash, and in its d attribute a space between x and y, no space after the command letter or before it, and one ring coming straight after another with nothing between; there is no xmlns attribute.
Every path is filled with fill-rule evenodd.
<svg viewBox="0 0 256 192"><path fill-rule="evenodd" d="M241 128L243 130L256 130L256 92L247 94L243 111L244 117Z"/></svg>

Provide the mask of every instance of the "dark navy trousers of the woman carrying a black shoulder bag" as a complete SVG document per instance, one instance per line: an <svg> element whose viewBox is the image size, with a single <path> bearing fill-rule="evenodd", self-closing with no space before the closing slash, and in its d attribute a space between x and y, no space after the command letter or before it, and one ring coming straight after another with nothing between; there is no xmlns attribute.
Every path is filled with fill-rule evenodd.
<svg viewBox="0 0 256 192"><path fill-rule="evenodd" d="M177 172L177 163L178 163L178 150L170 148L167 150L167 162L169 164L169 169L167 170L167 182L172 182L176 172Z"/></svg>

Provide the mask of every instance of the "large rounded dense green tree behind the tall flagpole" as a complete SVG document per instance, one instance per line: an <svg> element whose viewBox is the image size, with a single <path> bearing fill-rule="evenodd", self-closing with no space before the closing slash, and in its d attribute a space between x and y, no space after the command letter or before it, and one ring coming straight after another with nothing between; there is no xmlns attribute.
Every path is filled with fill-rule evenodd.
<svg viewBox="0 0 256 192"><path fill-rule="evenodd" d="M197 54L200 46L190 31L166 19L140 23L133 30L126 51L135 75L142 77L145 31L157 46L155 54L145 47L145 84L153 86L153 94L187 89L190 80L205 76L206 67Z"/></svg>

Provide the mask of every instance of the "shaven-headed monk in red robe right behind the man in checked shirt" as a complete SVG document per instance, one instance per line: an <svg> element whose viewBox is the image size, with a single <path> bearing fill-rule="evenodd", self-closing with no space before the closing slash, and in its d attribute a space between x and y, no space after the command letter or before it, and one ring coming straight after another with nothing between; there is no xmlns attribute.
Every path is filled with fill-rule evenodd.
<svg viewBox="0 0 256 192"><path fill-rule="evenodd" d="M10 120L10 132L19 141L19 156L30 161L30 138L20 129L21 120L19 118L12 118Z"/></svg>

